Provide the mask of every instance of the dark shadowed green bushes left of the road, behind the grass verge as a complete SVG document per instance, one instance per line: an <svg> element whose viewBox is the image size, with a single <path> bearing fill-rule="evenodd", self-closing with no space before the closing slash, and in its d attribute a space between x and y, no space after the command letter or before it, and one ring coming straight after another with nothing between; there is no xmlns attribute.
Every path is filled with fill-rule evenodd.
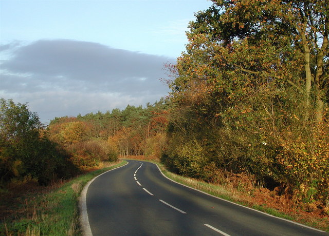
<svg viewBox="0 0 329 236"><path fill-rule="evenodd" d="M27 104L0 100L0 184L34 179L47 184L68 177L75 168L69 156L51 142Z"/></svg>

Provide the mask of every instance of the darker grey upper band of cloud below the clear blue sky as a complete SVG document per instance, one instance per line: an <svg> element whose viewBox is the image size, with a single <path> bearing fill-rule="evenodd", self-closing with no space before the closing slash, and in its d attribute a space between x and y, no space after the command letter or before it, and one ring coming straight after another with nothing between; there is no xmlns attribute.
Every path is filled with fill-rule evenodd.
<svg viewBox="0 0 329 236"><path fill-rule="evenodd" d="M161 86L163 63L173 58L143 54L107 46L70 40L37 41L15 50L0 69L15 74L30 74L35 81L58 84L85 83L92 91L152 91ZM80 85L77 85L78 87ZM163 88L161 88L163 87Z"/></svg>

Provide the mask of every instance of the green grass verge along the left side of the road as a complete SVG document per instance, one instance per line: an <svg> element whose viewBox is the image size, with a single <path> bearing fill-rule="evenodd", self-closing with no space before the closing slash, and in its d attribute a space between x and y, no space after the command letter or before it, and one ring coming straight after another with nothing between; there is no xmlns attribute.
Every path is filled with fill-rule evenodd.
<svg viewBox="0 0 329 236"><path fill-rule="evenodd" d="M81 235L78 198L84 185L95 176L125 163L109 163L105 168L46 191L24 195L15 206L7 206L12 212L0 219L0 235Z"/></svg>

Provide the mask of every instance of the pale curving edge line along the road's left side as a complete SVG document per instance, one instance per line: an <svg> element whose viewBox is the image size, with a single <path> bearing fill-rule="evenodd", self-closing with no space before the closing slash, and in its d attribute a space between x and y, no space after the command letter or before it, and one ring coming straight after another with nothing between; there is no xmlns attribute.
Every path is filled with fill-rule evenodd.
<svg viewBox="0 0 329 236"><path fill-rule="evenodd" d="M81 229L82 229L82 235L93 236L92 229L90 228L90 224L89 224L88 212L87 212L87 202L86 202L86 196L87 196L87 191L88 191L89 185L91 183L93 183L93 181L96 180L96 178L98 178L99 176L101 176L109 171L121 168L121 167L129 164L128 161L126 161L126 162L127 163L122 166L116 167L111 170L107 170L107 171L95 176L92 180L88 181L88 183L83 187L80 197L79 197L80 225L81 225Z"/></svg>

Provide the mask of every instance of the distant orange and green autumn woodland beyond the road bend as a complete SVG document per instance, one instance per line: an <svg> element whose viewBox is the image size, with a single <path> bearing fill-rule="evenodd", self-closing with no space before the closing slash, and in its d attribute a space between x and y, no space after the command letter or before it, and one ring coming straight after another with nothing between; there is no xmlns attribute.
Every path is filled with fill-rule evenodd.
<svg viewBox="0 0 329 236"><path fill-rule="evenodd" d="M93 166L118 156L148 155L160 158L167 127L165 99L155 104L124 110L97 112L77 117L56 117L49 124L53 142L74 153L76 165Z"/></svg>

